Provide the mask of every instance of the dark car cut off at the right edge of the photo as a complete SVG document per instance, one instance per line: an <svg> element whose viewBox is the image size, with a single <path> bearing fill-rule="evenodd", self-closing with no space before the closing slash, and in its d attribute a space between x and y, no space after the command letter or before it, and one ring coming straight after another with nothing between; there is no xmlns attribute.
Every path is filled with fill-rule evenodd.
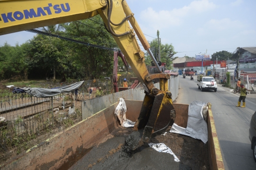
<svg viewBox="0 0 256 170"><path fill-rule="evenodd" d="M253 114L250 129L249 129L249 139L251 141L251 148L253 150L253 158L256 161L256 112Z"/></svg>

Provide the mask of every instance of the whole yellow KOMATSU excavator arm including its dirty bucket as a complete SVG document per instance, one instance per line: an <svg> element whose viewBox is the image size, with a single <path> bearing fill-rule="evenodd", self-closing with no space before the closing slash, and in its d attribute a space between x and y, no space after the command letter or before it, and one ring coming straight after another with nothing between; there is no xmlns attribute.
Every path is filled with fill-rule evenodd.
<svg viewBox="0 0 256 170"><path fill-rule="evenodd" d="M169 74L161 72L126 0L0 0L0 35L56 25L100 15L127 62L145 87L146 96L135 130L145 128L141 141L162 133L175 120ZM129 22L128 22L129 21ZM151 56L159 74L149 74L135 35ZM159 79L156 89L153 79Z"/></svg>

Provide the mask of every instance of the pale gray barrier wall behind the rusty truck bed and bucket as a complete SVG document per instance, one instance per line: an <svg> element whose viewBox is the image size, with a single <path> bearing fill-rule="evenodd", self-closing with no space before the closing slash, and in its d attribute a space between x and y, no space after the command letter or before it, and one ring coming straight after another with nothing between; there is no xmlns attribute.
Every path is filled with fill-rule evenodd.
<svg viewBox="0 0 256 170"><path fill-rule="evenodd" d="M159 83L154 84L157 89L160 89ZM168 80L169 91L172 93L172 100L178 97L179 76L171 75ZM118 98L127 100L143 101L145 97L144 89L128 89L117 93L112 93L99 98L92 98L82 102L82 120L99 112L100 110L110 107L110 105L118 102Z"/></svg>

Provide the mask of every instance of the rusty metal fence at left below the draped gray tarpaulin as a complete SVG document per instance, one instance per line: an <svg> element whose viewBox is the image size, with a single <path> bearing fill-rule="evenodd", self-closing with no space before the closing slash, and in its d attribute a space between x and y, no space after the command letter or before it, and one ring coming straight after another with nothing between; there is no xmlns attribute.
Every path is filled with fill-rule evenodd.
<svg viewBox="0 0 256 170"><path fill-rule="evenodd" d="M39 133L47 133L56 127L68 127L81 121L81 102L114 93L112 84L109 78L84 81L77 92L61 93L52 98L36 98L27 93L13 93L11 90L1 91L0 151L16 147L16 144L31 140ZM56 86L45 84L39 87Z"/></svg>

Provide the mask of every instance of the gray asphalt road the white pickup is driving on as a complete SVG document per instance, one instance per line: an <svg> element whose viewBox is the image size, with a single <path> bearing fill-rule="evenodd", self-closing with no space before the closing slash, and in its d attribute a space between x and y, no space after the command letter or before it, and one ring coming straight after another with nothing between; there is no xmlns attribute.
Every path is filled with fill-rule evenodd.
<svg viewBox="0 0 256 170"><path fill-rule="evenodd" d="M179 76L180 89L174 103L190 104L194 100L210 102L225 170L256 170L251 143L248 138L249 125L256 111L256 94L248 94L246 107L236 107L239 94L218 84L217 92L198 89L197 79Z"/></svg>

